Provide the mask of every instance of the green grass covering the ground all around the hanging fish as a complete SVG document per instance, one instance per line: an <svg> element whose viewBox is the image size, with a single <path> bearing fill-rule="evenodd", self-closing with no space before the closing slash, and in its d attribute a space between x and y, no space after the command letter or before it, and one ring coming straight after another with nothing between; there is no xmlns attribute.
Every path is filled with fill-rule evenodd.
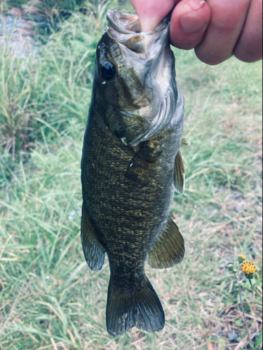
<svg viewBox="0 0 263 350"><path fill-rule="evenodd" d="M110 337L109 264L88 269L78 214L96 28L94 18L74 15L38 57L19 60L6 50L1 58L1 97L4 91L9 106L18 105L15 118L30 118L27 141L0 153L0 349L206 350L211 342L214 350L239 350L246 333L227 265L245 253L260 267L262 290L261 64L231 58L207 66L194 52L175 50L191 146L182 150L187 188L175 194L173 211L187 252L173 269L146 266L166 327ZM253 335L262 305L248 282L243 301Z"/></svg>

